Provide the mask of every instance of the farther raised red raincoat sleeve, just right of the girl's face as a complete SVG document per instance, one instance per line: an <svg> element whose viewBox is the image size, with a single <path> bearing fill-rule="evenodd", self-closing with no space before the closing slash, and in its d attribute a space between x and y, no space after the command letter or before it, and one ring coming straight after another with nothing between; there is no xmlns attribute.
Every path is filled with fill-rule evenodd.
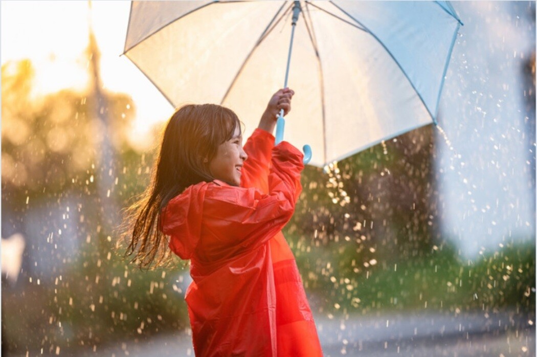
<svg viewBox="0 0 537 357"><path fill-rule="evenodd" d="M248 159L244 162L241 187L257 187L264 193L269 190L269 167L271 163L274 136L257 128L244 144Z"/></svg>

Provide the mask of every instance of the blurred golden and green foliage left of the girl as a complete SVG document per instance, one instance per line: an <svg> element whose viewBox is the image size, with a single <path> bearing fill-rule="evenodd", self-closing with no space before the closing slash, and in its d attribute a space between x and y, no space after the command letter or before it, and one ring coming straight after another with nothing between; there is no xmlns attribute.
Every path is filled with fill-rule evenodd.
<svg viewBox="0 0 537 357"><path fill-rule="evenodd" d="M165 272L140 271L122 256L114 227L103 222L97 143L106 133L95 118L91 89L37 96L33 79L30 61L2 66L2 211L23 230L28 249L52 253L47 259L56 256L59 262L52 274L32 273L26 265L16 285L3 280L3 352L72 352L183 329L188 325L185 292L177 280L183 279L185 264L177 261ZM153 153L128 146L132 99L121 93L101 95L107 103L101 112L110 118L108 132L119 159L110 202L127 207L149 182ZM49 209L49 216L56 215L69 198L76 203L64 219L78 219L76 236L67 238L77 242L74 257L49 235L61 234L51 222L40 222L40 236L24 232L29 212ZM47 245L50 249L43 250Z"/></svg>

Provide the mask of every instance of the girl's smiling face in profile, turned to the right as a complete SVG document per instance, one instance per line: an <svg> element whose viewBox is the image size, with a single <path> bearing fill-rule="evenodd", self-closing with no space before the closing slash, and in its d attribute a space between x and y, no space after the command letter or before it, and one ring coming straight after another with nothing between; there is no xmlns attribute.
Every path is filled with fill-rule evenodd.
<svg viewBox="0 0 537 357"><path fill-rule="evenodd" d="M242 149L241 128L237 125L233 137L218 147L216 155L209 162L209 171L217 180L240 186L242 165L247 158Z"/></svg>

